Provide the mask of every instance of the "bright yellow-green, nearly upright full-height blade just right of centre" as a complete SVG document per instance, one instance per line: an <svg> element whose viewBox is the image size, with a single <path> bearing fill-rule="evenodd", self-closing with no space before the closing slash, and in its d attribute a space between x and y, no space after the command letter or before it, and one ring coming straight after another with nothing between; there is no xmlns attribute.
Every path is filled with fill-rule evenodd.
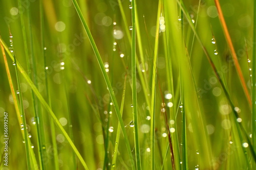
<svg viewBox="0 0 256 170"><path fill-rule="evenodd" d="M156 82L157 82L157 54L159 41L161 0L158 2L157 22L156 22L156 38L154 47L153 73L152 73L152 92L151 92L151 169L155 169L155 103L156 103Z"/></svg>

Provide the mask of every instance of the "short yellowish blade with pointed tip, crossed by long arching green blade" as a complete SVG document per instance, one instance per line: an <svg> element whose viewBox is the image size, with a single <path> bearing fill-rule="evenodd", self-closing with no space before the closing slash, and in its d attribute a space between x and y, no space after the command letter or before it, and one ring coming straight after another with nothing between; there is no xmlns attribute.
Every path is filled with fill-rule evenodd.
<svg viewBox="0 0 256 170"><path fill-rule="evenodd" d="M125 89L126 89L126 77L127 77L127 74L125 74L124 83L123 83L123 95L122 95L122 102L121 102L121 106L120 106L121 115L123 114ZM115 141L114 155L113 155L112 164L111 164L112 165L111 166L112 170L115 169L115 167L116 167L116 158L117 158L117 154L118 154L118 145L119 145L119 139L120 139L120 132L121 132L121 127L120 127L120 123L118 123L117 131L116 131L116 141Z"/></svg>

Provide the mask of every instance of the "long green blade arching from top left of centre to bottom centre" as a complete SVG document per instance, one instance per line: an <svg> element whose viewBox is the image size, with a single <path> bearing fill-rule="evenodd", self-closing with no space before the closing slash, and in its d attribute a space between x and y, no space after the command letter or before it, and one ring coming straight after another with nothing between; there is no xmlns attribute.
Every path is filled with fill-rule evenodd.
<svg viewBox="0 0 256 170"><path fill-rule="evenodd" d="M125 127L124 127L124 123L123 123L123 120L122 120L122 116L120 114L120 109L119 109L119 106L118 106L118 103L117 103L117 100L116 100L116 97L115 97L115 94L114 94L114 91L113 91L113 88L111 86L111 82L110 82L110 79L108 77L108 74L106 73L106 70L104 68L104 64L103 64L103 61L100 57L100 54L99 54L99 51L98 51L98 48L95 44L95 41L93 39L93 36L90 32L90 29L87 25L87 22L86 20L84 19L83 15L82 15L82 12L77 4L77 1L76 0L72 0L74 6L75 6L75 9L78 13L78 16L82 22L82 25L83 25L83 28L86 30L86 33L87 33L87 36L90 40L90 43L93 47L93 51L96 55L96 58L97 58L97 61L99 63L99 66L100 66L100 69L101 69L101 72L103 74L103 77L104 77L104 80L105 80L105 83L108 87L108 90L109 90L109 93L110 93L110 96L111 96L111 99L113 101L113 105L115 107L115 110L116 110L116 114L117 114L117 117L118 117L118 120L120 122L120 125L121 125L121 129L122 129L122 132L123 132L123 136L124 136L124 140L125 140L125 145L126 145L126 148L127 148L127 151L128 151L128 154L129 154L129 157L130 157L130 160L131 160L131 164L132 164L132 169L135 169L135 163L134 163L134 160L133 160L133 156L132 156L132 151L131 151L131 148L130 148L130 143L129 143L129 140L128 140L128 137L127 137L127 133L125 131Z"/></svg>

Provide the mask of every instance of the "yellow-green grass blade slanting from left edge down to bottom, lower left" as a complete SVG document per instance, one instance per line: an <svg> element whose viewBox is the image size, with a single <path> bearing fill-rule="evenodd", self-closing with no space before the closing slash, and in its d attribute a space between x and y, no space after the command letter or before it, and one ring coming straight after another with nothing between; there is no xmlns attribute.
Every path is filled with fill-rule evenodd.
<svg viewBox="0 0 256 170"><path fill-rule="evenodd" d="M7 51L9 57L14 61L14 58L13 58L11 52L9 51L8 46L5 44L5 42L3 41L3 39L1 37L0 37L0 43L4 46L4 48ZM78 159L81 161L83 167L85 169L89 169L87 164L86 164L86 162L84 162L81 154L78 152L77 148L75 147L75 144L73 143L73 141L69 137L68 133L65 131L65 129L62 127L62 125L59 123L59 121L58 121L57 117L55 116L54 112L52 111L50 106L47 104L45 99L42 97L42 95L40 94L40 92L38 91L38 89L36 88L34 83L32 82L32 80L29 78L29 76L28 76L27 72L25 71L25 69L22 67L22 65L20 65L20 63L18 61L16 61L16 65L17 65L17 68L20 71L20 73L23 75L25 80L28 82L29 86L34 91L34 93L37 96L38 100L41 102L42 106L45 107L45 109L48 111L48 113L50 114L50 116L54 120L54 123L56 124L56 126L59 128L59 130L61 131L63 136L65 136L66 139L68 140L69 144L71 145L71 148L76 153L76 155L77 155Z"/></svg>

